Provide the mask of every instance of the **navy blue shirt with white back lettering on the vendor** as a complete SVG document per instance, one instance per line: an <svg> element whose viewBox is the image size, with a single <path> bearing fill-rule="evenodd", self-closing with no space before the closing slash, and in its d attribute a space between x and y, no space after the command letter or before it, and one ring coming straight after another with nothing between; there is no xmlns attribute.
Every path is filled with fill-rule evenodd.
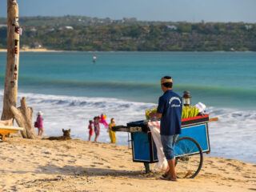
<svg viewBox="0 0 256 192"><path fill-rule="evenodd" d="M173 90L166 90L159 98L157 112L162 114L160 134L181 134L182 98L178 94Z"/></svg>

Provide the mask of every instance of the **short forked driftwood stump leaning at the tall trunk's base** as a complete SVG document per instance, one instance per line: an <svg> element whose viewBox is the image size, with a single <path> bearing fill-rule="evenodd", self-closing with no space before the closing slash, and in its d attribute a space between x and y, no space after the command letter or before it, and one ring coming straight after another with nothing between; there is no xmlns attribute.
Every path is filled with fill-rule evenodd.
<svg viewBox="0 0 256 192"><path fill-rule="evenodd" d="M33 109L32 107L26 106L26 98L22 98L20 107L16 108L15 106L11 106L10 110L14 114L18 126L24 128L24 130L21 131L22 137L36 138L34 126L32 124Z"/></svg>

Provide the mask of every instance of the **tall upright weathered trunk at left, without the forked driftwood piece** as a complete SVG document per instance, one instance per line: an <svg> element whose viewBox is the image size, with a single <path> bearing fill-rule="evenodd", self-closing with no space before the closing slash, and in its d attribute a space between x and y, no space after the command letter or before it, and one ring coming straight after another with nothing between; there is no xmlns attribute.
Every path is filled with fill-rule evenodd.
<svg viewBox="0 0 256 192"><path fill-rule="evenodd" d="M13 118L11 106L17 104L19 62L18 3L7 0L7 63L2 120Z"/></svg>

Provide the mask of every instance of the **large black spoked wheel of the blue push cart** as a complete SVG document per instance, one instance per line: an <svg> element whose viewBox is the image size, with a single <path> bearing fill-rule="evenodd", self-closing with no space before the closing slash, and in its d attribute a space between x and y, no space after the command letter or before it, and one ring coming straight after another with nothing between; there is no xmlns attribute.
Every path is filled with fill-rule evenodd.
<svg viewBox="0 0 256 192"><path fill-rule="evenodd" d="M202 149L194 138L178 138L174 146L178 178L194 178L202 167Z"/></svg>

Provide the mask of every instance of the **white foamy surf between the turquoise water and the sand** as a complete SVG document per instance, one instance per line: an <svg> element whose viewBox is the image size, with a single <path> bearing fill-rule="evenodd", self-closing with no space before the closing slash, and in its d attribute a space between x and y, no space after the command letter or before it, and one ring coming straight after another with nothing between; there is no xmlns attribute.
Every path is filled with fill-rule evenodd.
<svg viewBox="0 0 256 192"><path fill-rule="evenodd" d="M88 122L94 116L106 114L106 122L115 118L117 125L145 119L145 110L157 104L129 102L117 98L86 98L47 94L19 93L26 97L28 106L34 109L33 121L39 110L43 113L45 135L62 134L62 129L71 129L72 138L87 140ZM3 91L0 91L2 101ZM18 100L21 98L19 97ZM2 104L2 103L1 103ZM19 106L19 103L18 103ZM2 109L0 109L2 113ZM245 162L256 162L256 110L238 110L207 107L210 118L219 118L209 123L210 148L212 156L236 158ZM128 145L128 134L117 132L119 145ZM101 126L99 142L110 142L109 134Z"/></svg>

